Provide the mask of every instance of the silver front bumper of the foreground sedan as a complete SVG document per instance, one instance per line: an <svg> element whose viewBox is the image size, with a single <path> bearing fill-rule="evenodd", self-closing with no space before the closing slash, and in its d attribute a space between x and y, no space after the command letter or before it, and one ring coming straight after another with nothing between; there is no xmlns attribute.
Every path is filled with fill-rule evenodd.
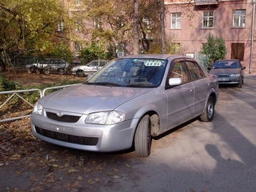
<svg viewBox="0 0 256 192"><path fill-rule="evenodd" d="M31 115L35 137L84 151L111 152L131 148L137 123L138 119L133 119L114 125L96 125L84 123L83 117L76 123L65 123L34 113Z"/></svg>

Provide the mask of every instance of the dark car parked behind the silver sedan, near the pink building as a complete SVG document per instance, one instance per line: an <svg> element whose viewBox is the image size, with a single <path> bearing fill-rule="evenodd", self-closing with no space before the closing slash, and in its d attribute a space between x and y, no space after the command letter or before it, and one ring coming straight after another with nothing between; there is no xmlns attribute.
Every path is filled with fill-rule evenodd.
<svg viewBox="0 0 256 192"><path fill-rule="evenodd" d="M224 59L215 61L210 74L217 75L219 84L237 84L242 87L245 66L237 59Z"/></svg>

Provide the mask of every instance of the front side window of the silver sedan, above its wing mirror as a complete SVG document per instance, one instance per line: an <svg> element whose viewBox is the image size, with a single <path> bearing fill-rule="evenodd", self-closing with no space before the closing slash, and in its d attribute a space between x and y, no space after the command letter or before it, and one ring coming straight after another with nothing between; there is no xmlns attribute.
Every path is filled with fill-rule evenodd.
<svg viewBox="0 0 256 192"><path fill-rule="evenodd" d="M169 78L181 78L182 84L187 83L189 80L187 78L187 70L184 66L184 62L176 62L172 68L172 71L169 72Z"/></svg>

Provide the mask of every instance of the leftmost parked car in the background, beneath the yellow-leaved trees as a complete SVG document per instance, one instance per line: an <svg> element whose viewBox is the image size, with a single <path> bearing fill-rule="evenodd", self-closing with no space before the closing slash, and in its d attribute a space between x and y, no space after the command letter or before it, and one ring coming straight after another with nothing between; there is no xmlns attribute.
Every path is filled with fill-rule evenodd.
<svg viewBox="0 0 256 192"><path fill-rule="evenodd" d="M64 75L69 71L69 62L63 59L43 59L41 62L26 65L29 73L40 72L49 75L50 73L57 73Z"/></svg>

